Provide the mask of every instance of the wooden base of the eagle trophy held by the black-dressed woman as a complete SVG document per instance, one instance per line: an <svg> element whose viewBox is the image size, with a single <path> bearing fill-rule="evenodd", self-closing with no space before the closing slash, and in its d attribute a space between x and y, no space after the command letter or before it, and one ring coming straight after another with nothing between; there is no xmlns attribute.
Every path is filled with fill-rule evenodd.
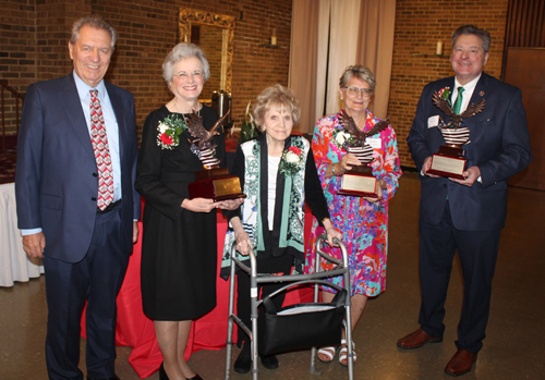
<svg viewBox="0 0 545 380"><path fill-rule="evenodd" d="M229 175L228 168L214 168L195 173L195 182L189 185L190 198L207 198L214 201L245 198L240 180Z"/></svg>

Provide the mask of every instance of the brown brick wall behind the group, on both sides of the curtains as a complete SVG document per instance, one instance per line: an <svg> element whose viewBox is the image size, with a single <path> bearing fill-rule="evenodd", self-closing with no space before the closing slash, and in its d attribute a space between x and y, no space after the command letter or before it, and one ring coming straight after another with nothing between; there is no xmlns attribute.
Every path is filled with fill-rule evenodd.
<svg viewBox="0 0 545 380"><path fill-rule="evenodd" d="M492 34L485 71L499 77L507 2L397 0L388 113L398 134L401 164L413 166L405 138L422 88L453 74L448 58L413 53L432 54L441 40L448 54L451 33L472 22ZM23 93L33 82L70 71L66 44L73 20L89 12L110 20L120 36L106 78L134 94L140 128L145 117L171 97L161 64L179 38L180 8L237 17L232 79L235 124L243 120L247 102L264 87L288 83L291 0L0 0L0 78ZM262 46L269 41L272 28L279 46L274 49Z"/></svg>

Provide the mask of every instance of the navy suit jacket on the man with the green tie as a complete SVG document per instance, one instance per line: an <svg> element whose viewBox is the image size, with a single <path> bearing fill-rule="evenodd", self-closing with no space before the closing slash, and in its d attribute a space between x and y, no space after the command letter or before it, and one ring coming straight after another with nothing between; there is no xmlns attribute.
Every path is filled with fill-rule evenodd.
<svg viewBox="0 0 545 380"><path fill-rule="evenodd" d="M424 160L436 154L445 144L437 126L428 127L428 118L447 118L432 102L432 95L444 87L455 87L455 77L433 82L424 87L416 115L407 138L409 150L419 171ZM463 231L499 230L507 214L508 180L532 161L526 115L519 88L483 73L470 103L486 99L483 112L465 119L462 125L470 130L465 150L465 168L477 166L482 183L473 186L457 184L448 179L419 175L421 181L420 218L436 225L439 223L447 196L452 223Z"/></svg>

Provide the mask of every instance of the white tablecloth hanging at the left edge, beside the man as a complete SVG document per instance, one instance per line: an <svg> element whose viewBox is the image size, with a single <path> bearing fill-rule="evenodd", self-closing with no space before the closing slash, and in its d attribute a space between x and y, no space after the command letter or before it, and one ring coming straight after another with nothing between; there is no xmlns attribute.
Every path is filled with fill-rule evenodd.
<svg viewBox="0 0 545 380"><path fill-rule="evenodd" d="M28 281L44 273L40 259L29 259L17 230L15 184L0 185L0 286Z"/></svg>

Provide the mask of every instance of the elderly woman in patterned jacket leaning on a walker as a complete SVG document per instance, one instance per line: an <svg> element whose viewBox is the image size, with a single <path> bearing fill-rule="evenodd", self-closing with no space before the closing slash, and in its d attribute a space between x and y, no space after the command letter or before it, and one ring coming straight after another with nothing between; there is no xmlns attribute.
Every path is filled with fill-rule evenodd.
<svg viewBox="0 0 545 380"><path fill-rule="evenodd" d="M332 245L335 237L341 237L329 219L311 144L302 136L291 136L300 115L299 101L291 89L280 85L265 88L254 102L254 120L264 133L237 149L233 174L240 177L246 198L241 208L227 212L230 229L223 256L229 256L234 241L241 255L249 255L249 247L253 247L259 273L290 274L293 266L302 273L305 200L325 228L327 242ZM226 269L229 261L223 259ZM250 277L240 272L237 278L237 314L251 326ZM259 285L263 293L258 293L263 298L282 285ZM280 293L271 298L277 309L283 297L284 293ZM234 371L246 373L251 367L250 338L239 328L239 345L242 343ZM275 355L261 358L265 368L278 367Z"/></svg>

